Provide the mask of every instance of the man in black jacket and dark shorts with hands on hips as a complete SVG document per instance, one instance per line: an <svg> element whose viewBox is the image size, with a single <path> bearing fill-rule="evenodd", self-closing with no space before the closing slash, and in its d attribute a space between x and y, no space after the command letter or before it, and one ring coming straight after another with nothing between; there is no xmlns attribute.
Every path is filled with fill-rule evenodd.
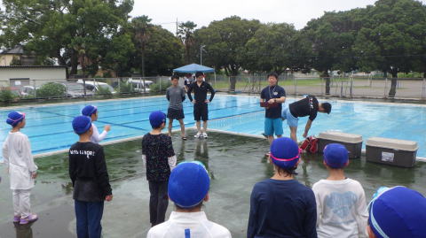
<svg viewBox="0 0 426 238"><path fill-rule="evenodd" d="M207 138L207 121L209 120L208 104L215 96L215 89L208 82L204 81L204 73L195 73L195 79L196 81L190 84L187 92L189 101L193 102L193 119L196 121L197 126L197 134L194 137ZM191 96L192 92L193 96ZM210 99L207 99L207 92L210 92ZM201 119L203 130L201 130Z"/></svg>

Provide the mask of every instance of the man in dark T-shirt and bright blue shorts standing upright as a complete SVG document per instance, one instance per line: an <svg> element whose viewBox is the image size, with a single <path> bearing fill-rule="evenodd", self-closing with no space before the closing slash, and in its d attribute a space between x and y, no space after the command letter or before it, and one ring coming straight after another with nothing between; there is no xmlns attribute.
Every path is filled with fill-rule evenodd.
<svg viewBox="0 0 426 238"><path fill-rule="evenodd" d="M265 108L264 135L271 144L274 133L277 137L282 135L281 104L286 102L286 91L278 85L277 73L269 73L268 81L269 85L260 93L260 103Z"/></svg>

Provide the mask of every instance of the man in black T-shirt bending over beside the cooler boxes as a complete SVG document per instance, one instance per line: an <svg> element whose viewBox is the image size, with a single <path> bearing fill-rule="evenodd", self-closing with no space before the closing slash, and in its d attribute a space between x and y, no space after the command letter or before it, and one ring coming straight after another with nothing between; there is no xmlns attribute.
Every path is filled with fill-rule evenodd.
<svg viewBox="0 0 426 238"><path fill-rule="evenodd" d="M317 112L330 114L331 104L319 104L315 96L308 95L304 99L289 104L287 108L282 111L282 119L287 119L288 127L290 127L290 137L293 141L297 142L297 124L300 117L309 116L306 126L304 127L303 136L308 135L311 128L312 121L317 117Z"/></svg>

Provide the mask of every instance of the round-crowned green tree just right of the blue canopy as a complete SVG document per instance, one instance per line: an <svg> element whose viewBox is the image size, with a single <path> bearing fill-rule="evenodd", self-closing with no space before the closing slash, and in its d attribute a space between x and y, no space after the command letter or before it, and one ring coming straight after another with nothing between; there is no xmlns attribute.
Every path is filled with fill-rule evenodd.
<svg viewBox="0 0 426 238"><path fill-rule="evenodd" d="M223 68L226 75L231 76L230 90L235 90L235 77L241 70L241 55L246 43L261 27L256 20L241 19L233 16L226 19L212 21L209 27L202 27L195 31L195 40L204 44L207 57L203 58L204 65Z"/></svg>

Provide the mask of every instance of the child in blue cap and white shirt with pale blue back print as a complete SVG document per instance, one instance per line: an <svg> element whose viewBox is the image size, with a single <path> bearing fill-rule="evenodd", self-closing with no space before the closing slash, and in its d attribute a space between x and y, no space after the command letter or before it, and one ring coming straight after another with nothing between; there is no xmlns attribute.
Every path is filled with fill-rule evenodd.
<svg viewBox="0 0 426 238"><path fill-rule="evenodd" d="M327 180L312 186L317 203L318 237L366 237L366 195L357 180L345 177L349 165L348 150L337 143L324 149Z"/></svg>

